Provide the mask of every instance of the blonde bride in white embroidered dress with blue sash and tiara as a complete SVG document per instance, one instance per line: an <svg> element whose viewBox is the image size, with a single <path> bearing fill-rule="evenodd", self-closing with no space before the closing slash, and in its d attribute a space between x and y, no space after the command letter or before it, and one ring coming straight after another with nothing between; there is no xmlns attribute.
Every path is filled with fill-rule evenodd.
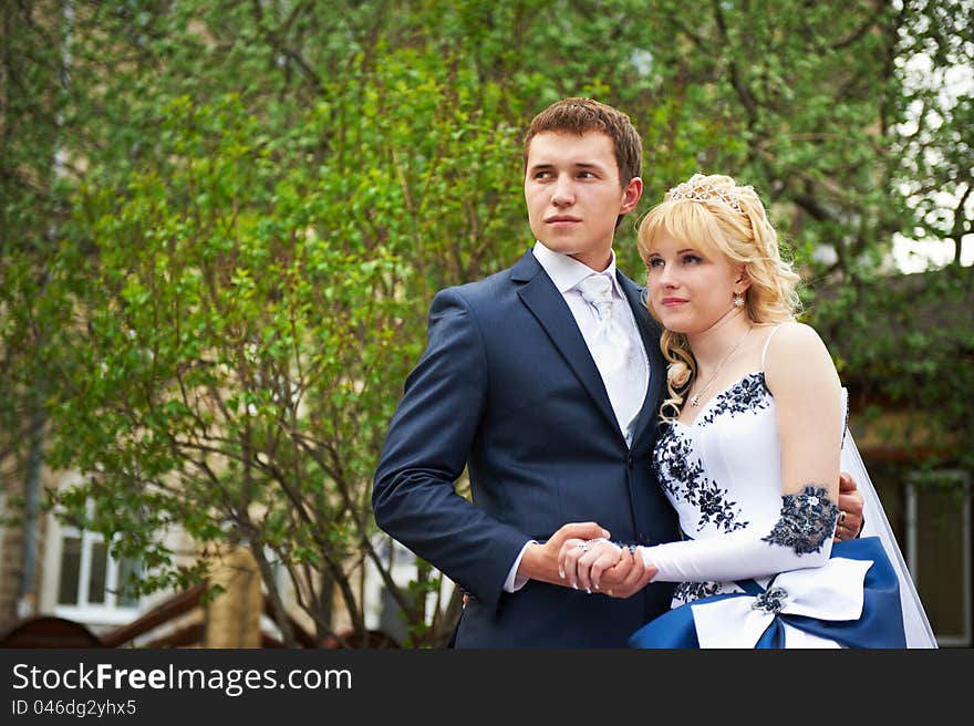
<svg viewBox="0 0 974 726"><path fill-rule="evenodd" d="M669 362L653 458L685 539L570 539L569 583L598 590L626 549L678 583L636 647L935 647L757 194L694 175L645 216L639 247ZM845 541L840 466L866 501L867 531Z"/></svg>

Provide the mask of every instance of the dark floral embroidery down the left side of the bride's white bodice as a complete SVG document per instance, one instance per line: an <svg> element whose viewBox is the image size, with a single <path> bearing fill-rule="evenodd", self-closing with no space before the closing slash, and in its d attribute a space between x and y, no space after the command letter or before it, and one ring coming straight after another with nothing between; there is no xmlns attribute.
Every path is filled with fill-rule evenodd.
<svg viewBox="0 0 974 726"><path fill-rule="evenodd" d="M656 442L653 464L660 485L674 499L690 502L700 512L697 527L714 525L725 532L744 529L749 522L739 521L740 507L727 500L727 490L704 476L701 460L693 446L671 427Z"/></svg>

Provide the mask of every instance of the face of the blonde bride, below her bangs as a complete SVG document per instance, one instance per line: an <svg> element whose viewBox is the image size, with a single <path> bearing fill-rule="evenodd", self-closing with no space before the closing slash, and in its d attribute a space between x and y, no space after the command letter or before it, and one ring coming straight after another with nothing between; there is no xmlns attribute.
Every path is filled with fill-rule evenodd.
<svg viewBox="0 0 974 726"><path fill-rule="evenodd" d="M649 302L667 329L693 335L734 304L746 283L740 265L723 252L660 236L646 259Z"/></svg>

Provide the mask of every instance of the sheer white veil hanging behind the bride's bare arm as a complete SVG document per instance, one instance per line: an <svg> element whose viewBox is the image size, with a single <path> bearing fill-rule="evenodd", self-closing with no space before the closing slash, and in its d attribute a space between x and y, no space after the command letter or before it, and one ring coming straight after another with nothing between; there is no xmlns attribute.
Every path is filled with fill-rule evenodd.
<svg viewBox="0 0 974 726"><path fill-rule="evenodd" d="M842 393L842 397L846 398L845 390ZM845 403L848 405L848 400ZM852 476L856 486L862 495L866 521L862 526L861 536L879 538L887 552L887 557L890 558L890 562L897 571L897 577L900 579L900 602L903 605L906 647L936 647L936 637L933 634L933 629L930 626L930 621L926 619L926 613L923 611L923 604L920 602L920 595L916 593L913 578L910 577L906 563L903 561L903 553L900 551L897 538L890 528L890 520L887 518L885 511L883 511L882 504L875 492L875 487L872 486L872 481L866 470L866 465L859 455L859 448L856 446L856 442L852 440L852 434L848 428L842 439L841 470Z"/></svg>

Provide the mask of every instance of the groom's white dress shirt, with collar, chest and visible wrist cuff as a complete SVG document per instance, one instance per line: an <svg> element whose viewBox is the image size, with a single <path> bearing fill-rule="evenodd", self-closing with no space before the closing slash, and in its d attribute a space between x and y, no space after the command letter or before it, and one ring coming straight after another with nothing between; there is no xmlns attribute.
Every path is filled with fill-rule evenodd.
<svg viewBox="0 0 974 726"><path fill-rule="evenodd" d="M604 274L611 280L612 298L615 303L612 305L612 315L622 329L626 331L632 341L629 365L625 371L615 374L622 375L624 380L613 381L613 384L623 386L626 392L626 398L639 402L639 405L635 406L634 415L630 416L626 413L615 412L615 418L619 423L620 431L625 437L625 443L632 445L635 419L639 417L640 407L646 397L646 390L650 385L650 360L643 348L642 338L640 336L639 328L635 323L635 317L632 313L632 308L629 307L629 300L622 293L622 290L619 288L619 282L615 279L615 251L610 250L612 259L609 262L609 267L602 272L592 270L592 268L579 262L577 259L569 257L568 255L550 250L540 241L535 242L535 249L532 251L541 268L555 283L555 287L558 288L561 297L564 298L564 302L568 304L568 309L571 311L576 323L578 323L579 331L581 331L582 338L586 340L586 345L591 345L590 341L594 339L598 332L598 319L594 308L582 299L577 286L591 274ZM605 374L603 374L603 380ZM521 548L520 553L517 559L515 559L514 566L504 583L504 589L507 592L516 592L517 590L520 590L528 581L528 578L517 577L517 569L521 562L521 558L525 556L525 550L528 544L533 542L536 542L536 540L525 542L525 547Z"/></svg>

